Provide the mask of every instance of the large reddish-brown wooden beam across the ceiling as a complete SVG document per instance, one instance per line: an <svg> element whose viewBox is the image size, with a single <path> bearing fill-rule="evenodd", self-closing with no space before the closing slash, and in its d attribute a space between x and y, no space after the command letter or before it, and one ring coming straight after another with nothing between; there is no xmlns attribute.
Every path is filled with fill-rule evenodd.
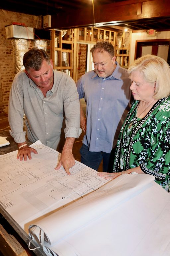
<svg viewBox="0 0 170 256"><path fill-rule="evenodd" d="M170 17L169 0L127 0L93 9L67 10L51 16L51 28L68 29L87 26L118 25L138 19Z"/></svg>

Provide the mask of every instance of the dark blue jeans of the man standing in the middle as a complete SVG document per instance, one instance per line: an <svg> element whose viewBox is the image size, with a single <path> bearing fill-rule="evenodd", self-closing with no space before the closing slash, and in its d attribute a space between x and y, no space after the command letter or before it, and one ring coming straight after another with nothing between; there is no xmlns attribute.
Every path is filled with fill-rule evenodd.
<svg viewBox="0 0 170 256"><path fill-rule="evenodd" d="M83 144L80 148L80 154L81 163L96 171L98 170L99 165L103 159L103 172L108 172L110 153L106 153L103 151L91 152L89 151L88 147Z"/></svg>

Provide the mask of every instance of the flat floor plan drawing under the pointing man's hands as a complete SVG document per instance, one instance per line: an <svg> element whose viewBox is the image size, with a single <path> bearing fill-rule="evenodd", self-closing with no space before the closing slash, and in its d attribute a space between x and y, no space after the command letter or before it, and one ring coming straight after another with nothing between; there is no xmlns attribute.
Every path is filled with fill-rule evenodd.
<svg viewBox="0 0 170 256"><path fill-rule="evenodd" d="M38 154L32 154L31 160L17 160L17 151L0 156L0 203L26 232L30 221L108 182L77 161L70 176L63 167L56 171L60 154L40 141L32 147Z"/></svg>

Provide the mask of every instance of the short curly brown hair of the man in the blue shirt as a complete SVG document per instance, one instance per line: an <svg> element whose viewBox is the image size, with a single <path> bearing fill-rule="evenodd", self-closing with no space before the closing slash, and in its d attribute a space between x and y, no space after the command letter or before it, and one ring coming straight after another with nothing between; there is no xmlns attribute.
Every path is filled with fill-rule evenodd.
<svg viewBox="0 0 170 256"><path fill-rule="evenodd" d="M99 52L106 51L108 52L111 57L115 56L115 50L113 44L109 43L108 41L98 41L90 50L93 54L94 50L99 49Z"/></svg>

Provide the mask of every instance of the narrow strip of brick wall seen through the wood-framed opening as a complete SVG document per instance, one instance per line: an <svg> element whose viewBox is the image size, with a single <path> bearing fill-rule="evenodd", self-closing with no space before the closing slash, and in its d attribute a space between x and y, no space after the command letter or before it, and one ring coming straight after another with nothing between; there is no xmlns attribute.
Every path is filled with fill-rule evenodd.
<svg viewBox="0 0 170 256"><path fill-rule="evenodd" d="M87 66L87 44L78 44L78 75L79 79L86 72Z"/></svg>

